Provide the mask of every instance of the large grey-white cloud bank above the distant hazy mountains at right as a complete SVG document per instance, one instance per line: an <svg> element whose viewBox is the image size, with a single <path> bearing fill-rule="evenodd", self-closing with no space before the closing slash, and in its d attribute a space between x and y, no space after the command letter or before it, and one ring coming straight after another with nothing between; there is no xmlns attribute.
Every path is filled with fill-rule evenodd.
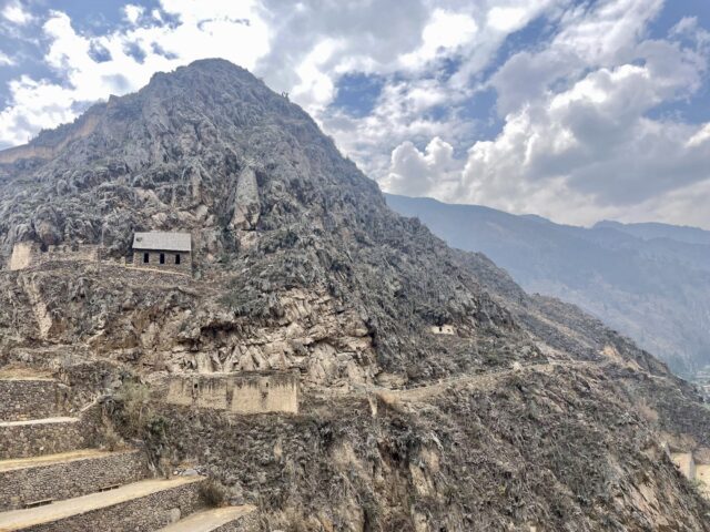
<svg viewBox="0 0 710 532"><path fill-rule="evenodd" d="M450 171L422 178L420 167L394 153L383 184L568 223L656 218L709 227L698 208L710 197L710 124L649 117L702 88L706 34L693 19L669 39L646 39L660 7L609 0L566 12L546 45L514 55L491 78L505 125L471 145L458 186Z"/></svg>

